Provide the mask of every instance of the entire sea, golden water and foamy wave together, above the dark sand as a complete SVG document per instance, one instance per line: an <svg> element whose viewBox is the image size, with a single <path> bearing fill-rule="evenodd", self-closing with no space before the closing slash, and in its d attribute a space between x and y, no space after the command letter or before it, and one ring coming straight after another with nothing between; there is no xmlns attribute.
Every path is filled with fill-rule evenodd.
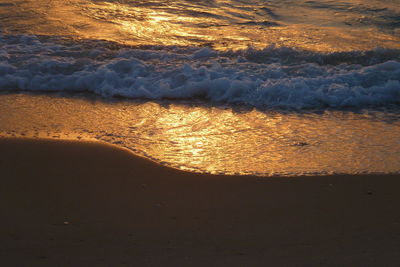
<svg viewBox="0 0 400 267"><path fill-rule="evenodd" d="M399 173L400 0L0 0L0 137L200 173Z"/></svg>

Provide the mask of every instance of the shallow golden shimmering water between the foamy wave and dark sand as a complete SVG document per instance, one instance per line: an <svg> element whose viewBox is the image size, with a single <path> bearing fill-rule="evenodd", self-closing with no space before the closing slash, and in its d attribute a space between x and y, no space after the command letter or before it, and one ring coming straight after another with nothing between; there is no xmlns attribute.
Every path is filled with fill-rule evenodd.
<svg viewBox="0 0 400 267"><path fill-rule="evenodd" d="M0 136L100 140L183 170L301 175L399 172L399 116L0 96ZM384 116L383 116L384 115Z"/></svg>

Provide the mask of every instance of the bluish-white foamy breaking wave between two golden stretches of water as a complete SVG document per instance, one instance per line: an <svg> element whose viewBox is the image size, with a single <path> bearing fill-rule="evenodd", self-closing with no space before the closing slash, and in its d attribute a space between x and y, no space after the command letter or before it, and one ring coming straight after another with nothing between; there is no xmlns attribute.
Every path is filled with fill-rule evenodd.
<svg viewBox="0 0 400 267"><path fill-rule="evenodd" d="M0 90L85 91L104 97L203 98L257 107L400 104L400 52L318 54L269 47L115 47L1 36Z"/></svg>

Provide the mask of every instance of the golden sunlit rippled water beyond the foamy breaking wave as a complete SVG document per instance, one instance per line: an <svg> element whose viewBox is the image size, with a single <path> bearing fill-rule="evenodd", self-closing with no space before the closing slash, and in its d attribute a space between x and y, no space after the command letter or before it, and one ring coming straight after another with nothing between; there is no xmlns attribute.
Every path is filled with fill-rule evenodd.
<svg viewBox="0 0 400 267"><path fill-rule="evenodd" d="M280 14L282 21L275 22L274 17L261 14L264 9L264 5L246 3L235 7L230 1L218 1L218 6L205 10L187 1L160 1L156 9L154 4L149 7L143 3L30 0L16 3L4 15L10 21L2 23L5 32L104 39L129 45L211 45L226 50L274 44L316 51L400 47L398 35L374 27L346 26L342 21L349 20L346 12L336 15L324 9L288 6ZM12 20L12 16L24 19ZM324 20L326 16L330 20ZM337 21L325 22L334 17Z"/></svg>

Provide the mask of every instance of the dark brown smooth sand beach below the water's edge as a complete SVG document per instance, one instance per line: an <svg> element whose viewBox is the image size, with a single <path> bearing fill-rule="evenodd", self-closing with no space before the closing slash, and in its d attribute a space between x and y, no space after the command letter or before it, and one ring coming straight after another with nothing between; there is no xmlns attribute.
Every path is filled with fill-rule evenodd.
<svg viewBox="0 0 400 267"><path fill-rule="evenodd" d="M400 177L181 172L0 139L1 266L398 266Z"/></svg>

